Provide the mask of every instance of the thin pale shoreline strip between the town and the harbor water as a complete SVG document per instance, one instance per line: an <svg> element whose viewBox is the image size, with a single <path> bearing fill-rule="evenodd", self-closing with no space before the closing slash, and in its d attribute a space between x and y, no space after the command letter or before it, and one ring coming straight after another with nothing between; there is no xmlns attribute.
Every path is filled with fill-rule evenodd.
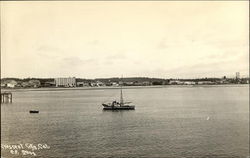
<svg viewBox="0 0 250 158"><path fill-rule="evenodd" d="M192 88L192 87L244 87L249 84L219 84L219 85L156 85L156 86L123 86L123 89L150 89L150 88ZM23 91L64 91L64 90L104 90L120 89L120 87L41 87L41 88L1 88L1 92L23 92Z"/></svg>

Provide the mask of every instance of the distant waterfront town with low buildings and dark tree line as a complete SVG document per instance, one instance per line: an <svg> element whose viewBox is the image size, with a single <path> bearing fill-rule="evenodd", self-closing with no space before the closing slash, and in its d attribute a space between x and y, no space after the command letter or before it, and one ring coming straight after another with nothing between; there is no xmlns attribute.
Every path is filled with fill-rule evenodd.
<svg viewBox="0 0 250 158"><path fill-rule="evenodd" d="M154 86L154 85L218 85L218 84L249 84L249 77L240 77L236 72L235 77L227 78L198 78L198 79L160 79L148 77L131 78L97 78L81 79L68 78L2 78L1 88L42 88L42 87L117 87L123 86Z"/></svg>

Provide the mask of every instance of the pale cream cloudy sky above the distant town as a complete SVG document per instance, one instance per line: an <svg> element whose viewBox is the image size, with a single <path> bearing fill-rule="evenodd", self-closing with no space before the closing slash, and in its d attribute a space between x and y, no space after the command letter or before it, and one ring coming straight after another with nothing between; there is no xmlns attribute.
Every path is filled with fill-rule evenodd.
<svg viewBox="0 0 250 158"><path fill-rule="evenodd" d="M249 76L249 1L1 1L1 78Z"/></svg>

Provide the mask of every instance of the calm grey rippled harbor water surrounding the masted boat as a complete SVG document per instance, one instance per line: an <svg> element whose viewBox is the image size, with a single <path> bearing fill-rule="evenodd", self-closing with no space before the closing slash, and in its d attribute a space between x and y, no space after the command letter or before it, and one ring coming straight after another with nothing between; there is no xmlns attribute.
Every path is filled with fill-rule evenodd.
<svg viewBox="0 0 250 158"><path fill-rule="evenodd" d="M36 157L249 156L248 85L129 88L124 97L135 111L102 111L119 89L13 92L1 105L1 144L50 146Z"/></svg>

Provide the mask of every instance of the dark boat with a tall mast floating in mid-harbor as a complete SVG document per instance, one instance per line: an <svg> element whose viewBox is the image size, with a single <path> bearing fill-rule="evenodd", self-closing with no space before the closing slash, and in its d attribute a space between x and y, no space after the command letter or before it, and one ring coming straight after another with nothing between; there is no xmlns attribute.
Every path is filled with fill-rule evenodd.
<svg viewBox="0 0 250 158"><path fill-rule="evenodd" d="M109 103L103 103L103 110L135 110L135 106L131 105L131 102L124 102L122 94L122 84L120 93L120 102L112 101Z"/></svg>

